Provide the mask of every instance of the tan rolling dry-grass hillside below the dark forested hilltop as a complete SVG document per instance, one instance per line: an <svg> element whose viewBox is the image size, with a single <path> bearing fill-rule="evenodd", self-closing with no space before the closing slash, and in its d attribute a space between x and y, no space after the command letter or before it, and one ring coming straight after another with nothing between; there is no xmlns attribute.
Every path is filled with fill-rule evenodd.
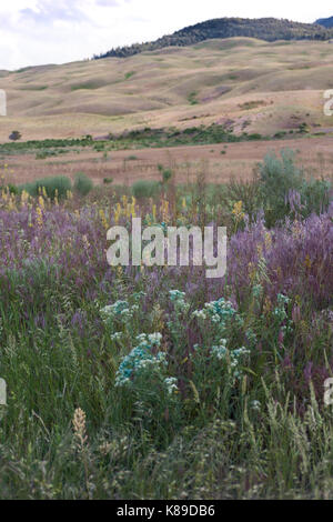
<svg viewBox="0 0 333 522"><path fill-rule="evenodd" d="M0 72L8 117L0 141L95 137L142 127L225 123L234 132L330 131L323 91L333 88L329 42L210 40L127 59Z"/></svg>

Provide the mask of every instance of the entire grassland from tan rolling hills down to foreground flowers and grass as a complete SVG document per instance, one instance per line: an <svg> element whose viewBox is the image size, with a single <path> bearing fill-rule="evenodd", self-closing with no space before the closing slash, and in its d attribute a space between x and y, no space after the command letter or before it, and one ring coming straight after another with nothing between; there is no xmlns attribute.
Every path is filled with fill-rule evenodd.
<svg viewBox="0 0 333 522"><path fill-rule="evenodd" d="M333 499L332 50L0 72L1 499ZM110 265L138 217L225 274Z"/></svg>

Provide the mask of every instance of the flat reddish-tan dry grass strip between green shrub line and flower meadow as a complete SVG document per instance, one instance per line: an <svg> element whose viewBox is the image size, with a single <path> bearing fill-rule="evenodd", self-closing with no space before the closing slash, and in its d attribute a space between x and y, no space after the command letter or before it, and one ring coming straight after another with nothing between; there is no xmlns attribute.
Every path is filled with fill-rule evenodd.
<svg viewBox="0 0 333 522"><path fill-rule="evenodd" d="M230 178L250 179L253 168L269 151L289 148L296 151L297 162L313 175L333 174L333 138L304 138L279 141L256 141L171 149L112 151L104 159L101 152L82 151L56 158L37 160L33 154L8 157L11 181L23 183L46 175L69 175L84 172L95 184L104 178L114 183L132 184L140 179L159 180L158 164L171 167L178 183L193 181L198 168L204 164L206 179L224 182ZM222 151L225 153L222 154Z"/></svg>

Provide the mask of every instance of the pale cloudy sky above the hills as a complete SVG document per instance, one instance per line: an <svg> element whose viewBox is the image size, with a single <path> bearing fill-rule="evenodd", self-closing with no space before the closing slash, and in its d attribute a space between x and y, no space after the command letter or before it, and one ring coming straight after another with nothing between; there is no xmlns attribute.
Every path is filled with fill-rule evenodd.
<svg viewBox="0 0 333 522"><path fill-rule="evenodd" d="M211 18L333 16L331 0L0 0L0 70L65 63Z"/></svg>

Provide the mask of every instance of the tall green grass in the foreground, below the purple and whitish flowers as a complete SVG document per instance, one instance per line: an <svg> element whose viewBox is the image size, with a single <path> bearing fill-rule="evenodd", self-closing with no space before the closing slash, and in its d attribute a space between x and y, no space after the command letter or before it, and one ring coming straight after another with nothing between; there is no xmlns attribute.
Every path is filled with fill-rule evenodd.
<svg viewBox="0 0 333 522"><path fill-rule="evenodd" d="M114 388L121 353L108 328L94 333L97 304L70 281L60 283L57 270L38 263L12 272L10 305L0 307L0 368L9 389L8 406L0 406L2 499L332 499L332 409L321 409L312 394L299 413L278 374L246 390L246 381L233 388L228 374L223 387L213 385L221 373L203 367L174 400L153 380L133 392ZM24 320L19 284L33 299ZM123 284L110 289L113 299ZM33 313L40 307L42 329ZM77 309L89 317L83 337L70 325ZM154 313L139 311L130 337L152 331ZM75 434L78 408L85 423Z"/></svg>

